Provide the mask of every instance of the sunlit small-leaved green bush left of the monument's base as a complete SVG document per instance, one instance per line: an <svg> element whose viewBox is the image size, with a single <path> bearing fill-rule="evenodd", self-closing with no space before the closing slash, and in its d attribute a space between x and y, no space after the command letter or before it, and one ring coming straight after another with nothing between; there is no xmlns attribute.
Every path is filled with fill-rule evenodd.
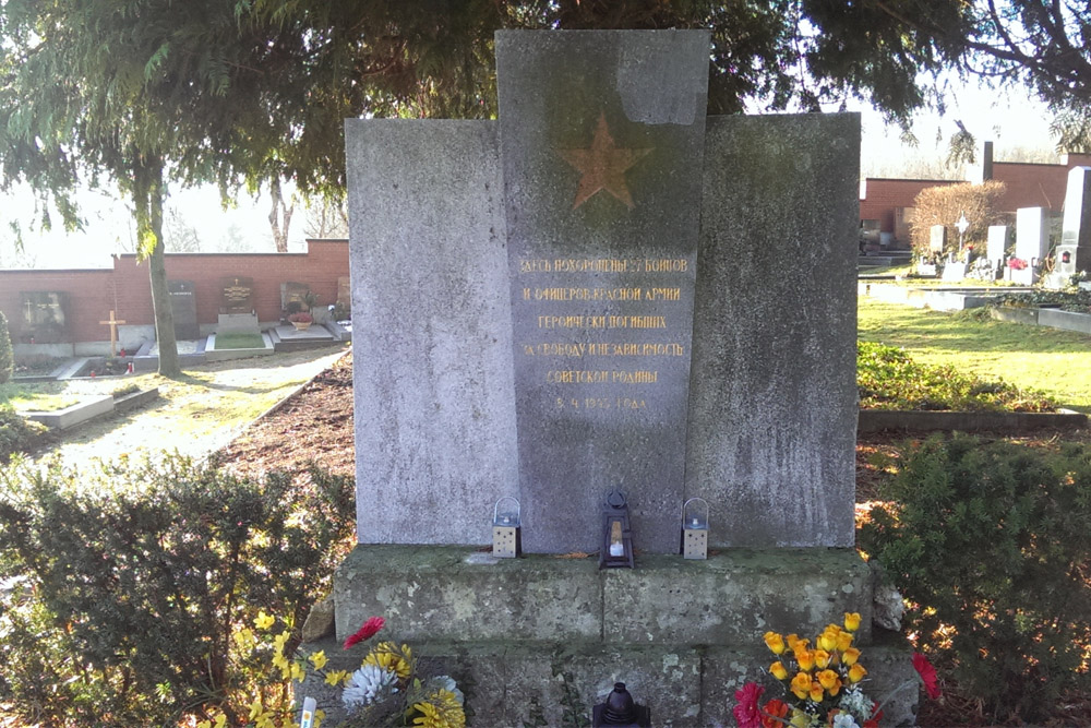
<svg viewBox="0 0 1091 728"><path fill-rule="evenodd" d="M350 480L181 457L0 470L0 702L45 726L175 726L242 679L256 609L301 623L352 533ZM233 723L232 723L233 725Z"/></svg>

